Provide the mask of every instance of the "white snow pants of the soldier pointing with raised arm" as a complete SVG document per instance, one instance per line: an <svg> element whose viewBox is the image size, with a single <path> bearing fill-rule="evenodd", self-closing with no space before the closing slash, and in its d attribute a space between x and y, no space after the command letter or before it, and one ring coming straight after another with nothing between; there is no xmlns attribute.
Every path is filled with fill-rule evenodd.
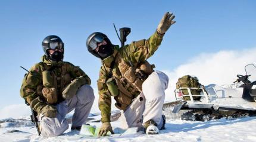
<svg viewBox="0 0 256 142"><path fill-rule="evenodd" d="M160 71L149 75L142 84L141 94L122 112L121 128L141 128L146 121L154 120L160 129L163 125L164 90L168 87L168 81L168 76Z"/></svg>

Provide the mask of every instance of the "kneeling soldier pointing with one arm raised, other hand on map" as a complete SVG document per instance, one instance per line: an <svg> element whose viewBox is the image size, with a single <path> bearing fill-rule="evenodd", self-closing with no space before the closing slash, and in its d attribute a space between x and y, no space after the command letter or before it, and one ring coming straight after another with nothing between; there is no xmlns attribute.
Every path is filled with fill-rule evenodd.
<svg viewBox="0 0 256 142"><path fill-rule="evenodd" d="M164 33L173 21L174 15L167 12L148 40L134 41L119 48L111 43L107 35L96 32L89 35L86 46L90 53L102 60L99 72L99 109L102 127L99 135L113 133L110 124L111 96L115 106L123 110L123 128L149 127L155 125L164 129L162 115L168 76L154 71L146 59L152 56L163 40ZM154 133L154 132L153 132Z"/></svg>

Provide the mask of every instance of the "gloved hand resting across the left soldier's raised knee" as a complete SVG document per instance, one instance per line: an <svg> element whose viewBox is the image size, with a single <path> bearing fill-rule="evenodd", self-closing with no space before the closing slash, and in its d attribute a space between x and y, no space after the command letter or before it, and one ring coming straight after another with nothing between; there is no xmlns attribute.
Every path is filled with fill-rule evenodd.
<svg viewBox="0 0 256 142"><path fill-rule="evenodd" d="M74 79L63 91L63 98L64 99L70 99L74 95L76 95L77 90L80 88L80 86L85 85L86 80L83 78L83 76L80 76L76 79Z"/></svg>

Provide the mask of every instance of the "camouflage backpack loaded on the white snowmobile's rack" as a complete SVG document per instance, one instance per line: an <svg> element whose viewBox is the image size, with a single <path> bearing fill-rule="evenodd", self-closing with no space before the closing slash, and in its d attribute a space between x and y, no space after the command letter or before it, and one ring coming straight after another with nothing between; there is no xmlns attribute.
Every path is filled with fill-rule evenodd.
<svg viewBox="0 0 256 142"><path fill-rule="evenodd" d="M199 83L198 79L196 77L192 77L190 75L182 76L182 78L179 78L176 83L176 89L179 88L200 88L202 85ZM202 89L191 89L192 95L200 95ZM188 95L188 89L182 89L182 93L184 95ZM189 96L183 97L186 101L190 101ZM199 100L201 96L193 96L194 100Z"/></svg>

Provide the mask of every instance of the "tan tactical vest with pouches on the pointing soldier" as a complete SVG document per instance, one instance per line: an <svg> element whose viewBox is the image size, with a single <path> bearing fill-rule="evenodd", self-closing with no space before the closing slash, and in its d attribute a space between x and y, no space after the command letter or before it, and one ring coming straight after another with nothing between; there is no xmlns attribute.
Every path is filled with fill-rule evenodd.
<svg viewBox="0 0 256 142"><path fill-rule="evenodd" d="M149 64L146 60L130 66L116 51L113 56L113 67L103 66L110 74L107 79L108 90L114 96L115 106L121 110L126 109L131 104L132 99L136 98L142 91L142 83L154 70L154 64Z"/></svg>

